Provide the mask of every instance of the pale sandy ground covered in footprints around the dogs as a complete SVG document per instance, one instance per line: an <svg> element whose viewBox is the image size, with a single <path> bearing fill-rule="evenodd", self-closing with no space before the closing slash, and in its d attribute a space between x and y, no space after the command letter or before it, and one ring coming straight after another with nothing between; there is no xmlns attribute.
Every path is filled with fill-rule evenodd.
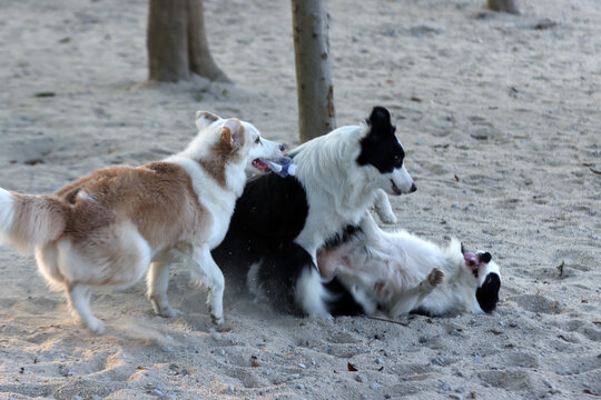
<svg viewBox="0 0 601 400"><path fill-rule="evenodd" d="M398 227L490 250L497 311L322 322L229 294L216 332L176 270L185 317L154 317L139 282L93 298L98 337L3 248L0 398L601 396L601 2L521 2L519 17L482 12L484 0L327 3L337 123L392 110L420 187L393 199ZM145 0L0 0L0 187L49 193L161 159L195 134L198 109L296 144L289 1L206 8L233 86L145 83Z"/></svg>

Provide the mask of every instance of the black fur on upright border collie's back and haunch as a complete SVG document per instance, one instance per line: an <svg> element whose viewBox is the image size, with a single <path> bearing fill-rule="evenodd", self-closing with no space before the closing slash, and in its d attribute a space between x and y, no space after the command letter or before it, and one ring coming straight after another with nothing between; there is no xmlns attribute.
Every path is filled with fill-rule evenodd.
<svg viewBox="0 0 601 400"><path fill-rule="evenodd" d="M294 177L258 176L246 183L227 234L213 258L226 279L239 284L253 263L260 261L259 286L272 306L299 314L294 293L304 269L315 268L311 256L293 240L308 214L305 189Z"/></svg>

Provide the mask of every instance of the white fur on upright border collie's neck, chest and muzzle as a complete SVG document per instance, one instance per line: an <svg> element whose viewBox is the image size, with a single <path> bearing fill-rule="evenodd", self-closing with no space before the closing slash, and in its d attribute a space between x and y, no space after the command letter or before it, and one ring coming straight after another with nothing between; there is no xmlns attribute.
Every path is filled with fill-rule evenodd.
<svg viewBox="0 0 601 400"><path fill-rule="evenodd" d="M358 224L381 190L392 191L391 179L403 192L411 190L413 180L404 167L383 174L373 166L357 164L361 140L370 130L366 124L341 127L290 152L309 204L309 213L295 242L311 254L315 264L317 249L327 239L348 224ZM388 220L393 221L390 204L388 210L388 217L393 216ZM317 278L316 271L299 278L297 303L311 317L331 318L325 307L329 294Z"/></svg>

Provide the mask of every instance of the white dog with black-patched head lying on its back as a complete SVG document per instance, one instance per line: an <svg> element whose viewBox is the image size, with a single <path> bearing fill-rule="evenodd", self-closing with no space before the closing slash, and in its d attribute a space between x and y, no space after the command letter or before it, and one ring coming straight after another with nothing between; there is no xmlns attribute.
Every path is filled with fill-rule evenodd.
<svg viewBox="0 0 601 400"><path fill-rule="evenodd" d="M322 248L317 263L366 314L492 312L499 301L501 276L489 252L466 252L456 239L439 247L406 231L385 232L368 213L359 228ZM338 299L346 302L338 309L348 309L348 296Z"/></svg>

